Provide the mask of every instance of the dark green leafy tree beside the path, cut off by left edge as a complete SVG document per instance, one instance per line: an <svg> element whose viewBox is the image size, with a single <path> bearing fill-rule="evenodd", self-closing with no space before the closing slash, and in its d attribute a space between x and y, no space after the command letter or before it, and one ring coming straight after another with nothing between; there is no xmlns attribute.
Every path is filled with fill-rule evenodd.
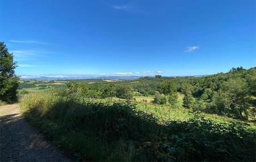
<svg viewBox="0 0 256 162"><path fill-rule="evenodd" d="M4 42L0 42L0 100L16 102L19 78L15 75L17 67L13 53L9 53Z"/></svg>

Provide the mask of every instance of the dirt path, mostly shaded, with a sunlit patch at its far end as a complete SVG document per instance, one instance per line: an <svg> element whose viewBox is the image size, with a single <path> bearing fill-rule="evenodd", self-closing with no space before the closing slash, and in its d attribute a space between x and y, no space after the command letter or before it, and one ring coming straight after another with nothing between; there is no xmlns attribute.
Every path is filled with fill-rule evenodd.
<svg viewBox="0 0 256 162"><path fill-rule="evenodd" d="M18 105L0 107L0 161L69 161L21 117Z"/></svg>

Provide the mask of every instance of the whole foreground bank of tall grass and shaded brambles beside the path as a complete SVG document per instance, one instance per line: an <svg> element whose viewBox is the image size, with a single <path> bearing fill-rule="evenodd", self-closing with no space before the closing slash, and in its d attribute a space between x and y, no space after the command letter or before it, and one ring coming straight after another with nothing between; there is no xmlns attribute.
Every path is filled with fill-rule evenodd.
<svg viewBox="0 0 256 162"><path fill-rule="evenodd" d="M86 101L67 89L28 94L20 106L73 160L255 161L255 129L242 123L201 115L169 121L130 102Z"/></svg>

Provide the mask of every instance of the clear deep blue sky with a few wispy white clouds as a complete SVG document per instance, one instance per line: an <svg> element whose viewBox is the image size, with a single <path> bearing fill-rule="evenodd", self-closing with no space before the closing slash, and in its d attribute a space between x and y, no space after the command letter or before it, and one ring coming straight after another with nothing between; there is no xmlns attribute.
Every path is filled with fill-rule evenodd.
<svg viewBox="0 0 256 162"><path fill-rule="evenodd" d="M1 0L17 74L196 75L256 66L256 1Z"/></svg>

